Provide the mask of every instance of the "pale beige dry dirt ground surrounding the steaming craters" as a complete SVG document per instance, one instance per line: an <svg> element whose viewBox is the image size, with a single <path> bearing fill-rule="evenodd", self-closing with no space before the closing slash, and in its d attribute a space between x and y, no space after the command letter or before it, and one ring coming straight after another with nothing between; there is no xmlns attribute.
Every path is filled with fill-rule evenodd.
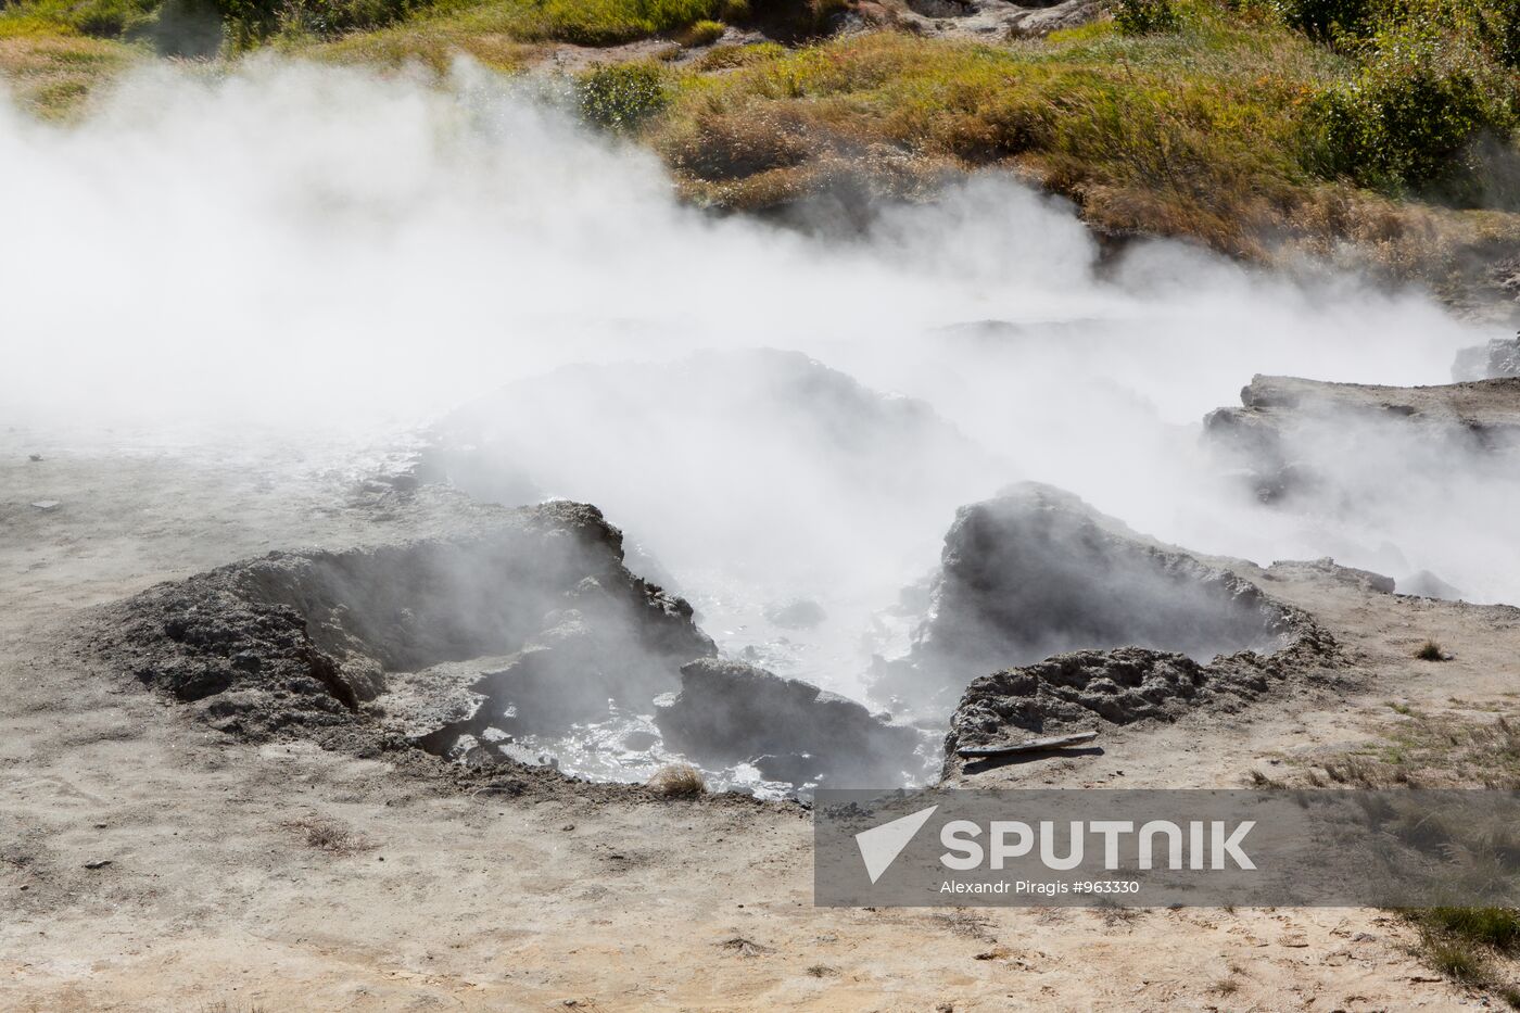
<svg viewBox="0 0 1520 1013"><path fill-rule="evenodd" d="M426 531L429 497L395 508L296 452L30 444L0 432L3 1010L1485 1002L1379 911L818 910L796 806L470 794L312 745L237 744L79 660L76 610L272 548ZM1100 756L980 777L1236 786L1365 739L1397 716L1389 701L1476 712L1520 689L1512 610L1268 586L1351 651L1344 689L1108 732ZM1414 660L1426 637L1455 660Z"/></svg>

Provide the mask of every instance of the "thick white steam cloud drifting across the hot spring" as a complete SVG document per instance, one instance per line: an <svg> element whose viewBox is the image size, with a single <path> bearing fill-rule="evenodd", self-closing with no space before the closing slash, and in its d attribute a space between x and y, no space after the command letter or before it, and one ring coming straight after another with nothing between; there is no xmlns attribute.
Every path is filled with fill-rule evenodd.
<svg viewBox="0 0 1520 1013"><path fill-rule="evenodd" d="M717 218L544 94L470 65L435 85L264 59L140 73L76 126L0 105L0 424L383 438L591 364L552 380L596 385L584 411L546 411L518 441L617 456L641 412L660 440L617 468L541 453L538 491L596 502L670 555L725 646L745 643L725 622L789 589L822 601L838 642L795 671L847 692L869 611L933 566L955 506L1015 479L1202 552L1336 555L1520 601L1512 470L1446 456L1433 475L1397 446L1327 446L1354 458L1353 494L1306 514L1256 503L1199 446L1202 415L1256 373L1446 382L1456 350L1493 335L1424 298L1163 242L1100 268L1069 207L1000 176L885 207L860 236ZM809 440L790 424L806 399L745 368L704 399L670 386L696 353L754 348L920 399L964 446L883 432L876 411ZM728 397L742 430L713 429ZM828 481L856 444L900 468L889 493ZM717 494L682 494L682 470ZM1459 523L1453 494L1473 505ZM787 537L809 516L839 537ZM725 569L725 551L769 572ZM763 587L725 584L742 570Z"/></svg>

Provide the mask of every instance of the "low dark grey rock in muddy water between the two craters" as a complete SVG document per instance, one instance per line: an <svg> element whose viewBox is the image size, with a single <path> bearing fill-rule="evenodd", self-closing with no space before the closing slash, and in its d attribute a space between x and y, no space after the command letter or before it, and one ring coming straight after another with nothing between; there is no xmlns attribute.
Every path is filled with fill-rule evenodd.
<svg viewBox="0 0 1520 1013"><path fill-rule="evenodd" d="M681 692L661 704L655 721L666 745L702 764L751 762L766 777L792 783L901 783L904 771L921 765L920 732L742 662L682 665Z"/></svg>

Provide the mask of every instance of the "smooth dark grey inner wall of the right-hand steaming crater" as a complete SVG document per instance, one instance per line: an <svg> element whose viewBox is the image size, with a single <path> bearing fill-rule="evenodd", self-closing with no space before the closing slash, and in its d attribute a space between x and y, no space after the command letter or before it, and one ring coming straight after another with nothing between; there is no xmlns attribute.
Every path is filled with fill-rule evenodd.
<svg viewBox="0 0 1520 1013"><path fill-rule="evenodd" d="M1137 645L1198 660L1272 651L1307 625L1227 569L1070 493L1023 484L956 514L920 640L906 665L883 666L879 689L958 695L988 669L1081 648Z"/></svg>

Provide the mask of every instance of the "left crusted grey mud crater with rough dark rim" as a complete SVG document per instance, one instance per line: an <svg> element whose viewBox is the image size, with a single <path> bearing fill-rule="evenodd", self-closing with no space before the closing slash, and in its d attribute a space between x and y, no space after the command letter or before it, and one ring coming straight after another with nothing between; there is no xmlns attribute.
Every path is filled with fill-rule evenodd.
<svg viewBox="0 0 1520 1013"><path fill-rule="evenodd" d="M275 552L161 584L112 607L96 646L248 738L400 733L448 751L518 698L553 721L648 703L714 651L686 601L622 560L594 506L497 511L453 538Z"/></svg>

